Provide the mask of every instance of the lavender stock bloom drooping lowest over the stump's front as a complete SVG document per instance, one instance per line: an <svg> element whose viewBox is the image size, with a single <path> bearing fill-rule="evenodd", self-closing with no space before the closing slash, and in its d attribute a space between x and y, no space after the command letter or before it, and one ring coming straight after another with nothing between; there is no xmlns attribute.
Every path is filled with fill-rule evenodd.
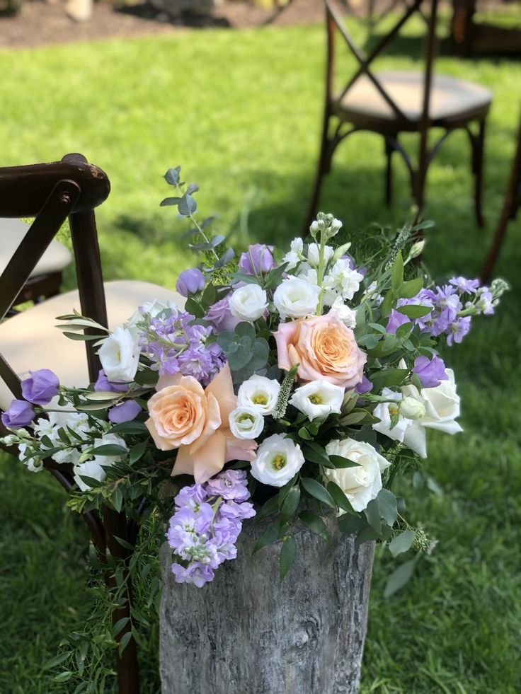
<svg viewBox="0 0 521 694"><path fill-rule="evenodd" d="M176 508L166 537L179 562L172 565L177 583L201 588L214 579L214 569L235 559L236 540L242 521L255 515L246 473L224 470L205 485L183 487L176 496Z"/></svg>

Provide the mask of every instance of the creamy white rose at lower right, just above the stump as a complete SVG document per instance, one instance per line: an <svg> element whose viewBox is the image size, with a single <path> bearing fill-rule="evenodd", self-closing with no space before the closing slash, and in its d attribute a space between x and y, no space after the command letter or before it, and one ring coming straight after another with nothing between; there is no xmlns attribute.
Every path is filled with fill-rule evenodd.
<svg viewBox="0 0 521 694"><path fill-rule="evenodd" d="M363 511L382 489L382 472L390 463L371 444L355 439L329 441L328 455L349 458L358 463L355 468L327 469L326 477L340 487L355 511ZM339 510L339 514L345 511Z"/></svg>

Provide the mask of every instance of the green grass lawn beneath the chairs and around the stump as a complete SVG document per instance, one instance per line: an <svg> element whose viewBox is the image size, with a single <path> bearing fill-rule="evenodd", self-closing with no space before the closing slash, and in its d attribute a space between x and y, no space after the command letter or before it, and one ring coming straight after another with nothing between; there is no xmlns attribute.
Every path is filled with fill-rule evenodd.
<svg viewBox="0 0 521 694"><path fill-rule="evenodd" d="M382 61L412 63L399 51ZM494 93L486 143L488 232L474 224L462 133L444 144L430 170L425 210L437 224L426 253L431 270L476 274L513 154L521 65L442 57L438 67ZM161 175L178 163L200 184L202 211L219 213L217 229L236 230L249 198L256 201L251 238L281 243L302 231L319 141L321 28L187 32L0 52L0 72L2 165L81 151L108 172L113 192L98 214L107 278L173 286L190 262L178 243L178 221L171 209L159 208L168 192ZM353 236L372 221L399 224L410 214L398 160L394 206L382 204L382 151L377 137L355 136L340 147L326 179L321 208L343 219ZM465 434L430 436L426 470L442 493L415 492L403 482L410 514L440 543L406 589L388 600L383 586L396 562L377 553L364 693L521 689L519 231L517 222L497 268L513 291L497 316L476 321L462 347L446 350L457 371ZM30 475L1 459L2 692L67 690L42 664L91 606L87 533L64 510L64 499L50 475ZM153 659L144 663L144 681L144 692L159 690Z"/></svg>

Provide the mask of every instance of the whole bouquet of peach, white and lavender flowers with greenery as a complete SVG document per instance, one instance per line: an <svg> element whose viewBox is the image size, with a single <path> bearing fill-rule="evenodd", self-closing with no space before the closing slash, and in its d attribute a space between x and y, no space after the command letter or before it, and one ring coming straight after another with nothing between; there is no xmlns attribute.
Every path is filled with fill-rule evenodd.
<svg viewBox="0 0 521 694"><path fill-rule="evenodd" d="M23 400L2 415L4 443L32 472L47 458L71 465L76 511L111 504L132 515L147 497L169 516L180 583L212 581L253 516L270 519L256 550L282 540L281 578L299 524L330 539L326 514L357 543L406 551L418 536L396 475L418 469L430 429L462 431L437 347L493 313L505 282L434 284L418 263L418 227L350 255L330 214L287 252L255 244L237 260L197 222L197 186L181 183L179 167L165 178L179 195L161 204L192 221L191 248L204 254L178 277L184 305L140 306L113 332L61 316L74 339L105 333L98 380L69 388L30 372Z"/></svg>

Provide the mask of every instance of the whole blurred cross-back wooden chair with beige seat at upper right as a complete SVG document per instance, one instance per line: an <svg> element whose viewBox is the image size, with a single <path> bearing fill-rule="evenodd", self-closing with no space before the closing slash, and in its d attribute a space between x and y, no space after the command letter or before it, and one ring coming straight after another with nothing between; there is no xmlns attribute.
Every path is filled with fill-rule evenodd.
<svg viewBox="0 0 521 694"><path fill-rule="evenodd" d="M316 214L321 183L331 170L331 160L338 144L355 132L374 132L384 139L387 157L385 199L391 202L392 155L403 158L411 179L411 190L418 211L423 208L428 167L443 141L451 132L464 129L471 144L471 168L475 179L475 208L479 226L483 226L481 187L483 178L483 144L485 122L491 104L491 93L477 84L437 75L433 72L436 52L438 0L412 0L393 28L365 55L345 28L334 0L326 0L327 66L326 100L319 165L309 202L307 224ZM425 66L423 71L373 71L374 60L396 38L415 14L427 21ZM340 34L357 61L355 72L340 92L334 91L336 78L335 40ZM428 145L430 129L442 129L432 146ZM476 132L474 132L474 128ZM418 163L413 163L399 141L405 132L418 133Z"/></svg>

